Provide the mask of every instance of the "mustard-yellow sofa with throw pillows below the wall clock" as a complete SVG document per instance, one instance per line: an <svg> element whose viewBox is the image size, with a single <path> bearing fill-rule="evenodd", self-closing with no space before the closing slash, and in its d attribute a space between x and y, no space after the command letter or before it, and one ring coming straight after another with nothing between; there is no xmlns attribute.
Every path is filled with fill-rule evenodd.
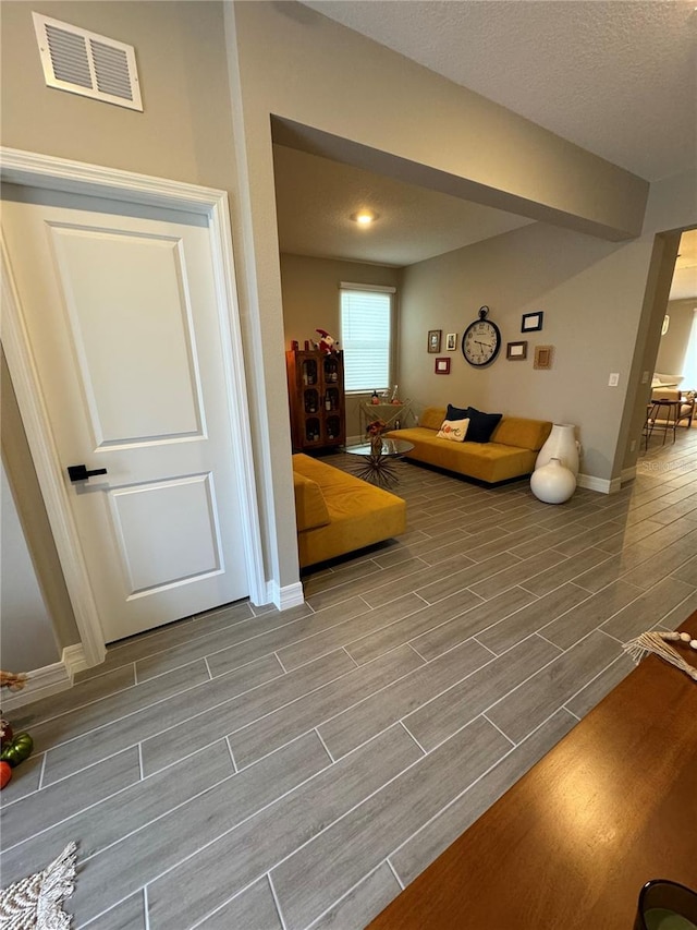
<svg viewBox="0 0 697 930"><path fill-rule="evenodd" d="M437 433L445 419L445 409L427 407L420 425L386 433L394 439L414 444L406 456L426 464L454 471L466 478L497 484L530 474L537 454L549 436L552 424L545 420L503 416L488 443L453 443L439 439Z"/></svg>

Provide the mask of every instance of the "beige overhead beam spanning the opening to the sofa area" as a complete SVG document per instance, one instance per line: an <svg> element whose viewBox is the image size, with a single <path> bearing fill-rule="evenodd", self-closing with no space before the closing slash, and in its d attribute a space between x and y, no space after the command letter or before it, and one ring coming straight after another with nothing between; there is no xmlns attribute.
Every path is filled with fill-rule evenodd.
<svg viewBox="0 0 697 930"><path fill-rule="evenodd" d="M234 14L249 129L272 113L316 145L391 156L426 186L610 238L640 230L648 184L635 176L297 3Z"/></svg>

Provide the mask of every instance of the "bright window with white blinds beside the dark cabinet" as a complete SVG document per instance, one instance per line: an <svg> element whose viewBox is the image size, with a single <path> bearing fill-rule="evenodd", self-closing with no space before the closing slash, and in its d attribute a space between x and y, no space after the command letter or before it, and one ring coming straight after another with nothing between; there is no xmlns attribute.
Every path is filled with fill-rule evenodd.
<svg viewBox="0 0 697 930"><path fill-rule="evenodd" d="M341 348L346 391L390 386L394 288L341 285Z"/></svg>

